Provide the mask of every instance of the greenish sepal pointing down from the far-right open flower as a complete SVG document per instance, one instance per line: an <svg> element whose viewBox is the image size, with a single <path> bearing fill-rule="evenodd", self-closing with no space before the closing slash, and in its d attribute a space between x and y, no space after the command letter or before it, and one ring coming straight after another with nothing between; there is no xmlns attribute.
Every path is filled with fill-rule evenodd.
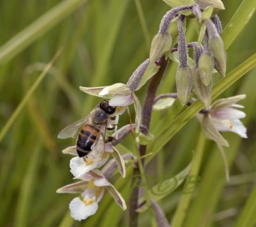
<svg viewBox="0 0 256 227"><path fill-rule="evenodd" d="M216 143L223 146L229 146L228 141L221 136L220 132L216 129L215 121L212 121L211 115L207 114L202 120L202 129L205 132L205 137L212 139Z"/></svg>

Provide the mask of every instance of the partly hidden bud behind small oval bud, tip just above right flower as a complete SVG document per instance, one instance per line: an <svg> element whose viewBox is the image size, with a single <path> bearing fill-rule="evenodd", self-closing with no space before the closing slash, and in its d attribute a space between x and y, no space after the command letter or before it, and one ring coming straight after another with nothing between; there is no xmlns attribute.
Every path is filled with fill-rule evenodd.
<svg viewBox="0 0 256 227"><path fill-rule="evenodd" d="M211 93L212 93L212 82L205 86L199 76L199 69L197 67L192 68L193 75L193 93L196 97L204 104L204 107L208 109L211 106Z"/></svg>

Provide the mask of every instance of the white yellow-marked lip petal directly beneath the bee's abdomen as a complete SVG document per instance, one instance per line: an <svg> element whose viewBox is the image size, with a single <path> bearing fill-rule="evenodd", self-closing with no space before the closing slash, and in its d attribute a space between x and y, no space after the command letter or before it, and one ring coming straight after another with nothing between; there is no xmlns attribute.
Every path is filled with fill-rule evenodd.
<svg viewBox="0 0 256 227"><path fill-rule="evenodd" d="M88 159L88 158L79 158L74 157L70 160L70 172L76 177L88 173L90 170L95 169L98 165L98 160Z"/></svg>

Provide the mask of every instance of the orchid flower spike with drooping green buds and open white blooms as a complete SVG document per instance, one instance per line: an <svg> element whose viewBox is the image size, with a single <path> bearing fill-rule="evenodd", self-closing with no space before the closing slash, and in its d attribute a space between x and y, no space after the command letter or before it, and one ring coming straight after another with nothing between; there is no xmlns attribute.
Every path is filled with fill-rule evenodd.
<svg viewBox="0 0 256 227"><path fill-rule="evenodd" d="M165 0L165 2L173 7L173 1ZM223 77L226 74L227 54L221 39L221 22L216 14L218 10L224 9L220 0L198 0L196 4L185 6L179 4L179 7L173 8L164 15L159 31L152 40L149 58L136 68L126 84L118 82L110 86L80 87L80 90L85 93L108 99L109 106L118 109L118 116L123 114L129 105L134 104L136 120L133 125L122 127L113 134L116 139L106 144L104 155L99 156L97 152L92 151L85 158L74 157L70 160L71 173L80 181L61 187L57 192L81 194L82 200L77 197L70 203L70 211L74 219L82 220L95 214L105 189L123 210L126 209L124 199L108 179L117 166L124 177L124 159L134 159L134 156L128 154L122 157L115 145L120 143L133 129L137 133L140 132L140 135L144 135L146 141L153 139L154 136L149 132L152 109L166 109L172 106L177 98L182 106L189 106L195 101L195 98L189 98L193 93L204 105L204 109L198 113L197 117L208 139L215 141L218 145L228 146L228 142L221 136L220 131L231 131L241 137L247 137L246 128L239 120L244 118L245 114L235 109L235 107L243 107L237 105L236 102L245 98L245 95L222 98L211 104L212 75L217 71ZM200 25L200 33L196 42L186 42L188 16L194 16ZM189 57L189 48L193 49L193 59ZM177 93L162 94L156 97L158 85L169 61L178 63L175 75ZM135 91L150 79L143 109L141 109ZM140 156L145 155L147 143L143 143L140 139L137 142L140 145ZM63 150L63 153L76 155L76 146L68 147ZM109 153L113 154L114 160L108 162ZM99 170L99 168L102 169ZM162 214L156 202L152 201L152 204L154 204L153 208L157 207L156 215Z"/></svg>

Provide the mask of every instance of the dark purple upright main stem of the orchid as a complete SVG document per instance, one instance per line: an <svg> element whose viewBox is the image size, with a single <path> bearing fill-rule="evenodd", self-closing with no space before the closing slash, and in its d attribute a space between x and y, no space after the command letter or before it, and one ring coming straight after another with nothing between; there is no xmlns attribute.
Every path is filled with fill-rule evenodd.
<svg viewBox="0 0 256 227"><path fill-rule="evenodd" d="M157 61L157 65L159 65L160 68L158 72L154 75L154 77L152 77L152 80L148 85L148 90L147 90L145 102L143 104L143 109L142 109L142 124L145 127L147 127L148 130L150 128L152 107L154 105L154 99L156 97L157 88L159 87L161 79L163 78L164 72L168 65L168 60L166 60L163 56L162 58L159 59L159 61ZM139 146L140 157L145 155L146 150L147 150L146 145ZM144 166L144 159L141 159L141 162ZM136 164L136 167L134 168L133 176L132 176L133 190L130 197L130 208L129 208L129 221L130 221L129 226L131 227L138 226L138 212L136 212L136 209L138 208L140 182L141 182L140 169L138 164Z"/></svg>

